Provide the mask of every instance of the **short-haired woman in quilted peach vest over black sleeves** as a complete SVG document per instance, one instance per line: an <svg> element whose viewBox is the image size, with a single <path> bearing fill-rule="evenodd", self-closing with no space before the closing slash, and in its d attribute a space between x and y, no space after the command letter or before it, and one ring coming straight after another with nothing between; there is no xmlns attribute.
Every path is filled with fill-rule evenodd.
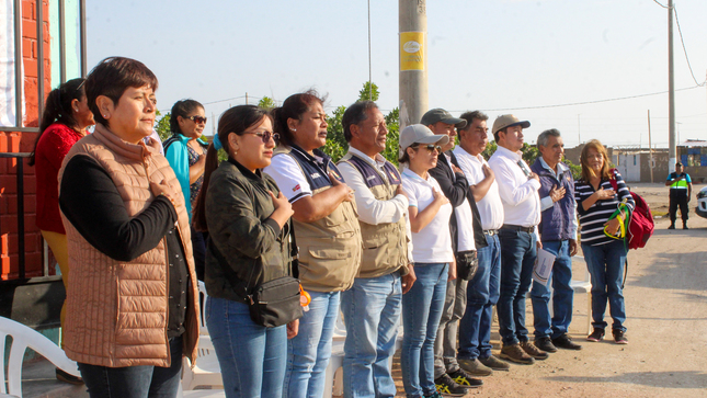
<svg viewBox="0 0 707 398"><path fill-rule="evenodd" d="M95 132L59 172L71 278L65 351L91 397L174 397L196 359L198 300L189 216L167 159L146 145L158 81L112 57L85 80Z"/></svg>

